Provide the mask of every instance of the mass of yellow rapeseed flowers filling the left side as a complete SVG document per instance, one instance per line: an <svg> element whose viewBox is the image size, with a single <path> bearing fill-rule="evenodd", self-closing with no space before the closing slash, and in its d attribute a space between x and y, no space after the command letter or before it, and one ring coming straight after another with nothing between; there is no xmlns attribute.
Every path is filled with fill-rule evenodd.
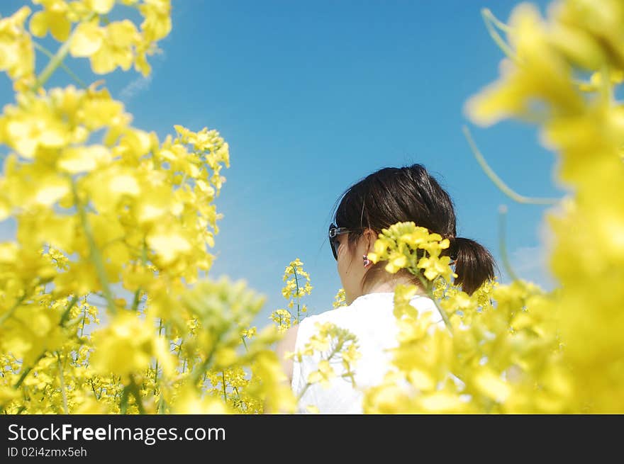
<svg viewBox="0 0 624 464"><path fill-rule="evenodd" d="M0 70L17 91L0 115L0 220L17 225L0 242L0 411L292 410L279 333L250 327L264 297L201 276L228 144L179 125L159 140L99 83L45 89L68 54L96 73L148 74L169 0L33 3L42 9L0 19ZM137 9L140 27L110 21L118 6ZM63 43L35 76L48 32Z"/></svg>

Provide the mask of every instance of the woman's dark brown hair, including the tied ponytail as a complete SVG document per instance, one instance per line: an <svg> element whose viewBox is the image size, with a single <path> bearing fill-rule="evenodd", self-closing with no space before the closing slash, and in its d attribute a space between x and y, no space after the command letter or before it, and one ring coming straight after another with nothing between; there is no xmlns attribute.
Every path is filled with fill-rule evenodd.
<svg viewBox="0 0 624 464"><path fill-rule="evenodd" d="M482 283L494 278L496 263L491 253L472 239L456 237L452 200L423 165L379 169L347 188L341 197L334 223L352 230L347 235L351 254L366 228L379 234L381 229L396 222L411 221L450 239L450 247L442 251L442 256L455 260L457 278L454 283L461 285L464 292L472 294ZM366 288L374 276L386 272L385 266L385 261L372 265L364 274L362 288ZM406 269L399 273L418 283L418 276Z"/></svg>

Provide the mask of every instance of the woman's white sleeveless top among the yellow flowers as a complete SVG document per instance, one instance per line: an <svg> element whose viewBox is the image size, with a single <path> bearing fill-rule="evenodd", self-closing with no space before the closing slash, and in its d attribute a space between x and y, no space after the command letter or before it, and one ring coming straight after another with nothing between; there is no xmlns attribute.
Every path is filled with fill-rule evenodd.
<svg viewBox="0 0 624 464"><path fill-rule="evenodd" d="M433 300L416 295L410 303L421 313L432 312L432 320L444 327ZM349 306L308 316L299 323L295 351L303 349L308 339L318 332L316 322L333 322L357 336L357 344L360 346L358 351L362 354L353 368L355 388L348 378L339 375L331 378L330 386L326 388L320 383L314 383L303 392L298 404L299 413L306 413L306 407L312 405L321 414L362 414L362 390L378 385L385 373L394 369L390 363L391 353L387 351L398 344L396 336L399 329L393 310L394 292L367 293L353 300ZM327 353L323 354L326 358ZM318 370L320 360L321 353L315 351L313 356L303 356L301 362L294 361L291 387L296 396L305 389L308 375ZM331 365L337 373L342 372L339 359Z"/></svg>

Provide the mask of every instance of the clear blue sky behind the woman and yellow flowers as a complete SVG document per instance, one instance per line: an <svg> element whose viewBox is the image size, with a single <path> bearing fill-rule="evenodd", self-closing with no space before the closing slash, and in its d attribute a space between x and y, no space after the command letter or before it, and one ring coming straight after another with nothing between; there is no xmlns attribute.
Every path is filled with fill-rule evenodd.
<svg viewBox="0 0 624 464"><path fill-rule="evenodd" d="M152 57L152 76L105 77L134 125L162 138L174 124L214 128L230 145L210 272L244 278L267 295L262 327L284 307L282 275L299 257L311 274L312 313L331 308L340 278L326 232L342 191L385 166L418 162L456 205L458 234L497 261L498 206L508 206L507 245L517 273L544 288L546 207L499 192L469 150L467 98L496 79L502 52L480 9L506 21L516 1L173 1L173 30ZM9 15L21 1L2 1ZM538 3L544 11L544 2ZM50 48L54 43L46 41ZM45 57L38 55L39 67ZM85 81L87 62L69 61ZM50 85L65 85L62 71ZM0 102L13 101L0 77ZM469 124L492 168L527 196L559 197L556 157L535 128ZM6 147L4 147L6 149ZM10 239L11 221L0 222ZM502 268L502 266L501 266ZM502 281L508 279L503 273Z"/></svg>

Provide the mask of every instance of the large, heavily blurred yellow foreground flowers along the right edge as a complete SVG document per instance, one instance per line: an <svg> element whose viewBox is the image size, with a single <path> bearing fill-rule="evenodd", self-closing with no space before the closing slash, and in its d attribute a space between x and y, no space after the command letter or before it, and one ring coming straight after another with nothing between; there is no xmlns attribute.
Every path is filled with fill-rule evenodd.
<svg viewBox="0 0 624 464"><path fill-rule="evenodd" d="M574 191L546 219L555 237L549 264L560 284L549 310L564 341L576 411L624 410L624 106L615 98L623 25L618 1L582 8L557 2L547 18L518 5L508 29L518 60L506 60L501 78L467 104L481 124L509 116L537 121L542 142L559 156L559 180Z"/></svg>

